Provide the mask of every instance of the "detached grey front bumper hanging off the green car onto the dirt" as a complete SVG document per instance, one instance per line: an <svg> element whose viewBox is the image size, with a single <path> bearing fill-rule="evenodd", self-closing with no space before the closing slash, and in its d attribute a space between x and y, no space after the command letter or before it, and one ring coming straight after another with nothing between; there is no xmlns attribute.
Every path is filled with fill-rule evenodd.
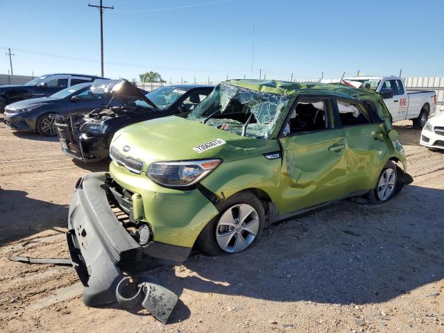
<svg viewBox="0 0 444 333"><path fill-rule="evenodd" d="M187 259L191 248L150 241L141 246L112 212L106 173L81 178L69 207L67 243L74 268L85 287L85 305L116 300L117 284L157 264Z"/></svg>

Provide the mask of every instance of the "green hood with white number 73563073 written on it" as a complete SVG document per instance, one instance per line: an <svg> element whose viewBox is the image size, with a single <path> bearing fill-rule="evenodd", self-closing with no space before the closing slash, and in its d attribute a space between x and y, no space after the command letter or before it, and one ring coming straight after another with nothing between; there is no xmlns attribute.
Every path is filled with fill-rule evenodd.
<svg viewBox="0 0 444 333"><path fill-rule="evenodd" d="M278 140L241 137L182 117L164 117L122 128L111 146L122 154L155 161L197 160L219 157L225 162L278 151ZM125 151L123 150L125 147Z"/></svg>

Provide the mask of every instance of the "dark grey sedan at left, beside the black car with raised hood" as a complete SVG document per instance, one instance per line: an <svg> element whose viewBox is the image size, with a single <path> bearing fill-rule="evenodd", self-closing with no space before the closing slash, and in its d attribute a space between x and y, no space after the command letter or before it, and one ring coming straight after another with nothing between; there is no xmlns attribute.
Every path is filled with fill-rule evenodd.
<svg viewBox="0 0 444 333"><path fill-rule="evenodd" d="M89 87L91 83L80 83L49 97L9 104L5 108L4 121L13 130L55 136L54 114L81 115L108 104L112 97L110 94L92 94ZM117 104L114 101L111 105Z"/></svg>

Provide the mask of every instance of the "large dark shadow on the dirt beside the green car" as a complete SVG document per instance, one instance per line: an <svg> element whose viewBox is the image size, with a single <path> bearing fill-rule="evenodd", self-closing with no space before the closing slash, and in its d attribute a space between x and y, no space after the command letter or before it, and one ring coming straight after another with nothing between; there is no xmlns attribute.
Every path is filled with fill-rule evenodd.
<svg viewBox="0 0 444 333"><path fill-rule="evenodd" d="M444 278L443 199L442 189L406 186L384 205L342 201L265 230L244 253L196 255L150 273L178 296L189 289L276 302L385 302Z"/></svg>

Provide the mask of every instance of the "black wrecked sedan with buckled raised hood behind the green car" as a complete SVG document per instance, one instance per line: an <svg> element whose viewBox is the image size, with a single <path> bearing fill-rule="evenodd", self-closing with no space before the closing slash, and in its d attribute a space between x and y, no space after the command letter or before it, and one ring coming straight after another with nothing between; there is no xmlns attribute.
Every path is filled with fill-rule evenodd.
<svg viewBox="0 0 444 333"><path fill-rule="evenodd" d="M144 95L127 80L95 80L92 92L111 93L121 105L98 108L83 117L56 117L62 151L84 162L103 160L109 155L117 130L140 121L189 112L213 89L211 85L174 85Z"/></svg>

